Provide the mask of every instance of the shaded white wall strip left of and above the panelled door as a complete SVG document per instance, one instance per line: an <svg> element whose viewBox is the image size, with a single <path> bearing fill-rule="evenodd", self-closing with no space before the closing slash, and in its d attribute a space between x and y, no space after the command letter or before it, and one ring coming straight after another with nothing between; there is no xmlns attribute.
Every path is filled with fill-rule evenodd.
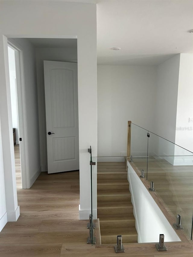
<svg viewBox="0 0 193 257"><path fill-rule="evenodd" d="M47 171L46 110L43 61L77 61L77 49L36 48L40 156L42 171Z"/></svg>

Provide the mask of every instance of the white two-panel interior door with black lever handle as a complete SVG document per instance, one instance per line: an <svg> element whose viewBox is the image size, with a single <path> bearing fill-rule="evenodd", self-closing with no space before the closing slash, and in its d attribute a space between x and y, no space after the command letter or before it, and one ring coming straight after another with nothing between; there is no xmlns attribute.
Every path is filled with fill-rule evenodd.
<svg viewBox="0 0 193 257"><path fill-rule="evenodd" d="M78 170L77 63L44 61L44 84L48 173Z"/></svg>

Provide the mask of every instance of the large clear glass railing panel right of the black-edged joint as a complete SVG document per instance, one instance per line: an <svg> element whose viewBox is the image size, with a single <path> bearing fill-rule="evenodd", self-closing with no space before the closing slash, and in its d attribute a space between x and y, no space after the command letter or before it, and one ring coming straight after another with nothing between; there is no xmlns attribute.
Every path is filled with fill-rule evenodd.
<svg viewBox="0 0 193 257"><path fill-rule="evenodd" d="M192 237L193 153L150 133L147 179L163 204L177 219L188 239ZM179 220L179 217L178 217ZM176 221L177 222L177 221Z"/></svg>

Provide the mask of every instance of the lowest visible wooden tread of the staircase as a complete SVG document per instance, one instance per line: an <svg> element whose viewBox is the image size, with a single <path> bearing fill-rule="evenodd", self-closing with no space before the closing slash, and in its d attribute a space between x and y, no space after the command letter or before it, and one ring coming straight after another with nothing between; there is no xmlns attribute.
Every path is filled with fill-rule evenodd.
<svg viewBox="0 0 193 257"><path fill-rule="evenodd" d="M101 238L104 236L137 236L137 230L135 227L112 227L112 228L100 228Z"/></svg>

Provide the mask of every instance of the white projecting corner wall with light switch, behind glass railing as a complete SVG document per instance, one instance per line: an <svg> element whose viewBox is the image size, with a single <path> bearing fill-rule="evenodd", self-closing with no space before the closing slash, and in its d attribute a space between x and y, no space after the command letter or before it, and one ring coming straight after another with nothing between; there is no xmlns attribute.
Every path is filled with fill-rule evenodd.
<svg viewBox="0 0 193 257"><path fill-rule="evenodd" d="M178 54L157 67L157 88L154 132L193 151L193 54ZM156 155L182 155L166 157L172 165L192 165L192 155L185 149L151 136Z"/></svg>

